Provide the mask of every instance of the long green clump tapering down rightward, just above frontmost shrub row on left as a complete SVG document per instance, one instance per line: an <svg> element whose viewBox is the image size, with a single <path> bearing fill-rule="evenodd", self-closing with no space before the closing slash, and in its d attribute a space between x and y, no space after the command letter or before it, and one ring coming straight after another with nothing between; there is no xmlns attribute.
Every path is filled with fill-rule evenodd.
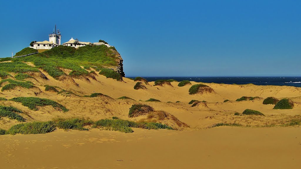
<svg viewBox="0 0 301 169"><path fill-rule="evenodd" d="M67 112L68 109L64 107L63 105L46 99L46 98L37 98L37 97L16 97L10 99L10 101L15 101L22 103L23 106L28 107L31 110L39 110L38 106L52 106L55 109L63 110L63 112Z"/></svg>

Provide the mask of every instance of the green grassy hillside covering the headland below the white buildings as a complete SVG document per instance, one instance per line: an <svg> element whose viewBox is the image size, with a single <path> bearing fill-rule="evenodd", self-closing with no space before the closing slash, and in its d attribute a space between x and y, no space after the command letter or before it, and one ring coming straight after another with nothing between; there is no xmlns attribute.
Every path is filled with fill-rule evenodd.
<svg viewBox="0 0 301 169"><path fill-rule="evenodd" d="M24 48L18 52L16 56L36 52L36 50L33 50L35 49L28 47ZM37 68L41 68L51 77L57 78L61 75L66 75L61 70L64 68L72 70L69 73L70 76L80 76L89 74L89 72L81 68L81 66L95 68L97 71L101 68L114 68L119 66L121 60L119 56L118 52L105 45L92 47L84 46L79 47L78 49L60 45L35 55L13 58L11 59L11 63L0 63L0 71L23 73L28 71L39 71ZM3 61L4 60L7 59L3 59ZM32 62L36 65L36 68L22 62Z"/></svg>

